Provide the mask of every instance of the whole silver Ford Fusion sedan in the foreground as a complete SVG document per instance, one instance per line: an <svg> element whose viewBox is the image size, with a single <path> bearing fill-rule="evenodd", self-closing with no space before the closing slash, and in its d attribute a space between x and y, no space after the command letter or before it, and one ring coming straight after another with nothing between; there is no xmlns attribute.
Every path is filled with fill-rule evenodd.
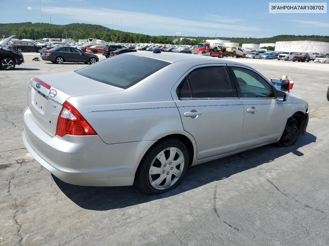
<svg viewBox="0 0 329 246"><path fill-rule="evenodd" d="M190 166L293 145L309 109L246 65L145 52L33 77L23 119L27 150L61 180L160 194Z"/></svg>

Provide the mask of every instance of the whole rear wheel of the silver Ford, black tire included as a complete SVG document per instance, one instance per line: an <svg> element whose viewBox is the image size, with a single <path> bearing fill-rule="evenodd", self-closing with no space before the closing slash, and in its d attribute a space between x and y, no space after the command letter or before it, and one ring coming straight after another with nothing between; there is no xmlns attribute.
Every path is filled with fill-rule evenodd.
<svg viewBox="0 0 329 246"><path fill-rule="evenodd" d="M134 184L147 195L158 195L177 187L189 165L186 146L169 138L152 146L141 160Z"/></svg>

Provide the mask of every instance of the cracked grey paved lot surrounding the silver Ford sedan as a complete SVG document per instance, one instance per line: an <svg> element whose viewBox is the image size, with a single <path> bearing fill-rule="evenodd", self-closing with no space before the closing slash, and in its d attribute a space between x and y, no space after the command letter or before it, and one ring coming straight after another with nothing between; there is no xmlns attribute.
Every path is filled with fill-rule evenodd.
<svg viewBox="0 0 329 246"><path fill-rule="evenodd" d="M29 79L86 66L33 57L0 70L0 246L329 244L329 64L223 58L267 78L291 76L291 93L309 102L308 132L289 148L195 166L177 189L145 196L63 183L28 154L21 133Z"/></svg>

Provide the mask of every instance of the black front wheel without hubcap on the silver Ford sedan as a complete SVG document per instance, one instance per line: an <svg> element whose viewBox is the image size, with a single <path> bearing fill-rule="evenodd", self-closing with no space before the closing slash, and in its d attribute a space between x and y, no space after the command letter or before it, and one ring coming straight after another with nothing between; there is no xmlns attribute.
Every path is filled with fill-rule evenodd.
<svg viewBox="0 0 329 246"><path fill-rule="evenodd" d="M278 147L289 147L294 145L299 136L299 124L295 116L288 119L285 130L283 130L282 136L279 142L276 143Z"/></svg>

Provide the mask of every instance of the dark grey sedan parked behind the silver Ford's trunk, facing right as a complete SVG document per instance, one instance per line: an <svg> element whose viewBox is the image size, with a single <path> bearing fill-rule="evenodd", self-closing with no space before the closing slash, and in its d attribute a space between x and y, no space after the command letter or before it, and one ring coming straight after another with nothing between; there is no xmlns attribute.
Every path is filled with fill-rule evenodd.
<svg viewBox="0 0 329 246"><path fill-rule="evenodd" d="M92 64L98 62L98 56L80 51L75 47L54 47L42 51L41 59L52 63L63 64L63 62L84 62Z"/></svg>

